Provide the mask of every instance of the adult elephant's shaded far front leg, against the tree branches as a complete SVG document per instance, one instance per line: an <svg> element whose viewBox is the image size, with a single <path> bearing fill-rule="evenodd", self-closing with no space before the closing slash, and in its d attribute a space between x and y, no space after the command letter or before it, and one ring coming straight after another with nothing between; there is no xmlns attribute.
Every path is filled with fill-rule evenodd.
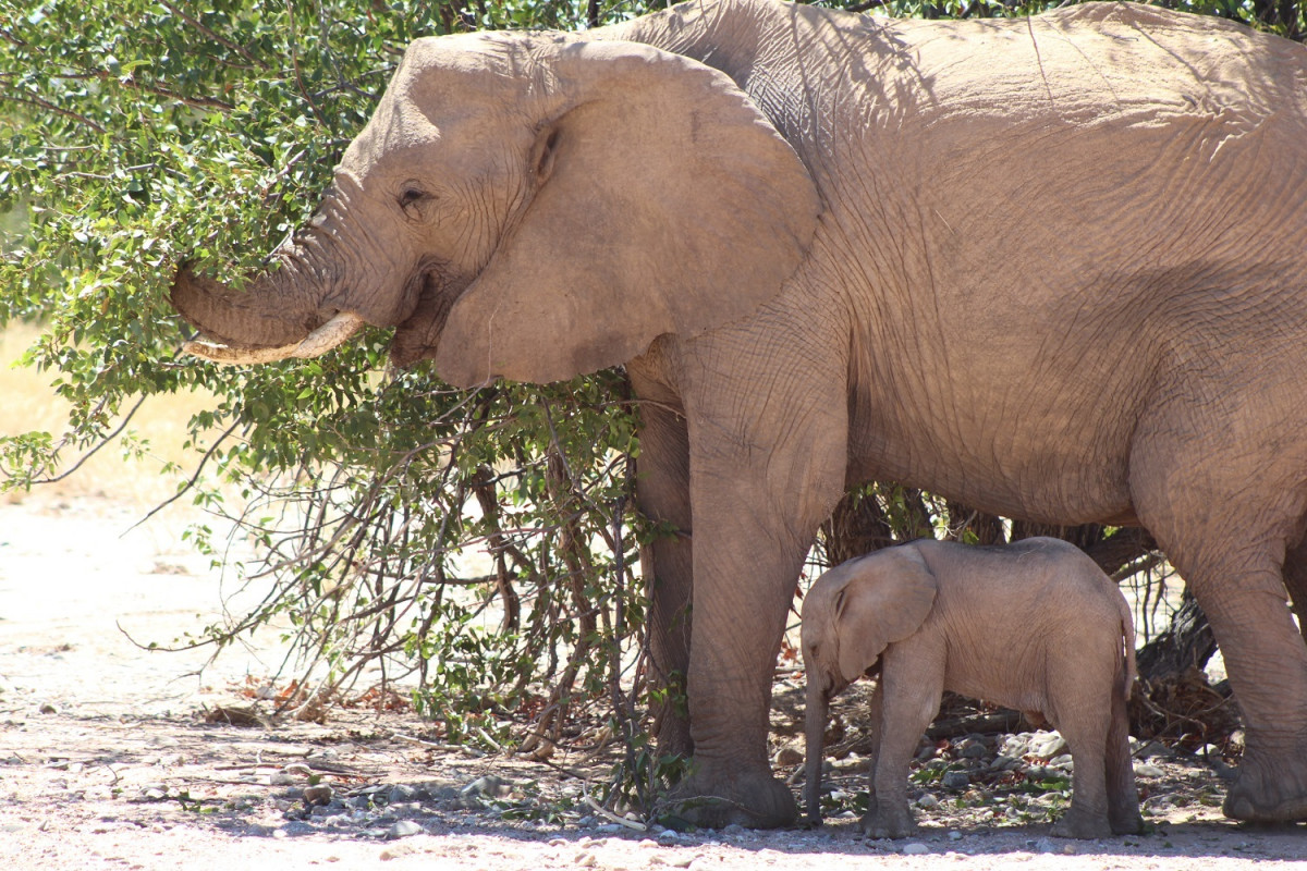
<svg viewBox="0 0 1307 871"><path fill-rule="evenodd" d="M650 659L665 691L654 712L659 755L691 756L685 678L690 669L690 452L685 418L673 407L642 407L637 496L640 509L665 526L640 551L650 594Z"/></svg>

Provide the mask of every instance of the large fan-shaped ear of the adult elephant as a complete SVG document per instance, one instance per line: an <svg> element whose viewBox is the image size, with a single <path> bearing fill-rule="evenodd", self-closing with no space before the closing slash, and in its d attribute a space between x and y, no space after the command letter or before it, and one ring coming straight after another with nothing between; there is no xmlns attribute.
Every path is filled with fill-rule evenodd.
<svg viewBox="0 0 1307 871"><path fill-rule="evenodd" d="M817 189L727 77L626 42L555 42L535 196L450 311L451 384L548 383L625 363L774 298L816 230Z"/></svg>

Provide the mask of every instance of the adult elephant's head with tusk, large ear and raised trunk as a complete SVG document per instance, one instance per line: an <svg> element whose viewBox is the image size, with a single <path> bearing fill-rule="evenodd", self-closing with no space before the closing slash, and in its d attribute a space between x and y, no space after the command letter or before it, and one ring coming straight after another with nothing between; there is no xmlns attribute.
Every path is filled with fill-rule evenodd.
<svg viewBox="0 0 1307 871"><path fill-rule="evenodd" d="M361 323L451 384L545 383L749 315L819 201L723 73L559 34L420 39L308 226L246 291L182 269L173 306L223 362L306 356Z"/></svg>

